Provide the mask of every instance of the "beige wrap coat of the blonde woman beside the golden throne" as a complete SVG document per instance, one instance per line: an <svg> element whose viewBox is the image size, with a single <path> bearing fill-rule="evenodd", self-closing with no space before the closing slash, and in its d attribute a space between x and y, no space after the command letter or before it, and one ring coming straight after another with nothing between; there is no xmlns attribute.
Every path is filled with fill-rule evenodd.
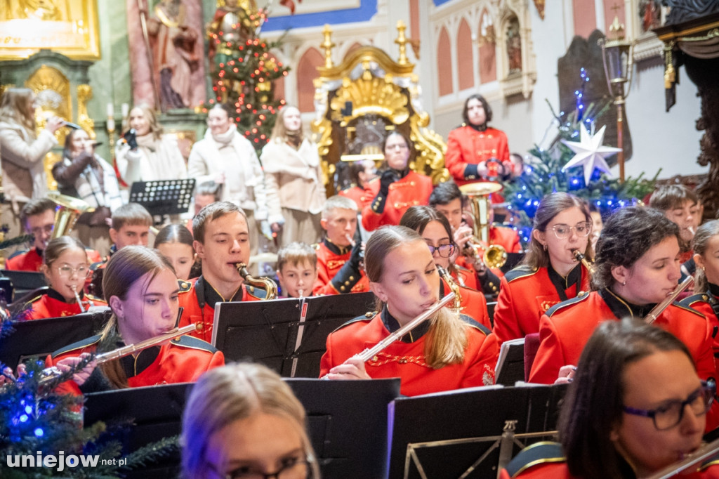
<svg viewBox="0 0 719 479"><path fill-rule="evenodd" d="M281 140L271 140L262 148L260 160L265 168L270 223L283 222L282 208L311 214L322 211L326 193L314 142L305 139L295 150Z"/></svg>

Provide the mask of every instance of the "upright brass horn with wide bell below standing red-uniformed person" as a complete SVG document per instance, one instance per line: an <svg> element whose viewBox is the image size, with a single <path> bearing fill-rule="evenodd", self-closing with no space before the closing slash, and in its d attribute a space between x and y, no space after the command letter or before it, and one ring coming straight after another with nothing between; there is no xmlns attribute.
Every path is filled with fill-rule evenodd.
<svg viewBox="0 0 719 479"><path fill-rule="evenodd" d="M481 256L487 268L501 268L507 262L507 251L500 245L490 245L490 194L502 189L499 183L480 182L462 185L459 190L472 201L472 216L475 218L475 236L467 243L472 248L473 256ZM485 247L484 245L489 245Z"/></svg>

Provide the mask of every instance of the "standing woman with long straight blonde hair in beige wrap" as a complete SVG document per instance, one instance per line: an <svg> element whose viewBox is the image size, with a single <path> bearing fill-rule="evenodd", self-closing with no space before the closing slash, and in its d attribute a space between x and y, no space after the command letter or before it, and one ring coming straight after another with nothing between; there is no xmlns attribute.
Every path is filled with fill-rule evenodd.
<svg viewBox="0 0 719 479"><path fill-rule="evenodd" d="M279 232L280 246L293 241L319 242L326 199L317 145L302 129L300 111L285 106L277 116L270 142L260 156L265 168L267 221Z"/></svg>

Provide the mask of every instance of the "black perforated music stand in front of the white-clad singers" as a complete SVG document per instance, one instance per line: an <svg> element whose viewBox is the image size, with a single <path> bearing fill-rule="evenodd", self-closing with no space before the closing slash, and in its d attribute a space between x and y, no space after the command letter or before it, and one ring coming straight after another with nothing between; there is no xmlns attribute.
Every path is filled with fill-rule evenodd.
<svg viewBox="0 0 719 479"><path fill-rule="evenodd" d="M195 178L135 181L130 188L129 201L145 206L152 216L187 213L194 189Z"/></svg>

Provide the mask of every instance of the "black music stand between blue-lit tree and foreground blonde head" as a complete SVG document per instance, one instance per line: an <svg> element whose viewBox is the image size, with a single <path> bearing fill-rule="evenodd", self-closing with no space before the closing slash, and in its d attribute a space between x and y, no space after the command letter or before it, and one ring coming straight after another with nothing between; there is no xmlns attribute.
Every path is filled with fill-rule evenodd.
<svg viewBox="0 0 719 479"><path fill-rule="evenodd" d="M103 421L109 433L101 440L122 444L122 455L165 437L180 434L182 412L192 383L162 384L143 388L89 393L85 396L85 426ZM128 424L132 424L129 426ZM180 452L127 473L125 478L176 478Z"/></svg>

